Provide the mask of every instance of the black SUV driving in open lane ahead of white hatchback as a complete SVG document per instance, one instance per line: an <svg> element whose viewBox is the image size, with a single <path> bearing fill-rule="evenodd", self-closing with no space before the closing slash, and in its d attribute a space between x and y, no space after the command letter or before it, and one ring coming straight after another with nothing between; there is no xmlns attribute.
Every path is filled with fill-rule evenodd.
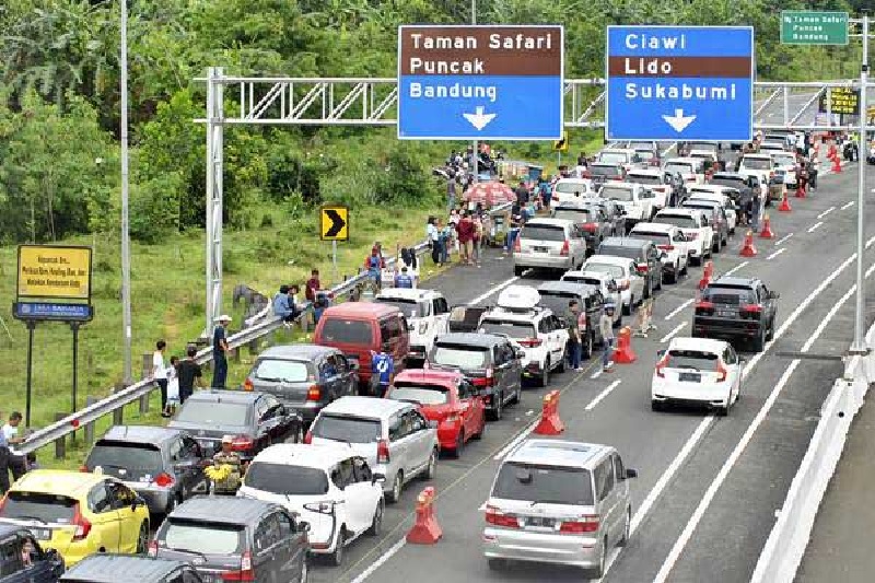
<svg viewBox="0 0 875 583"><path fill-rule="evenodd" d="M722 277L712 281L696 304L692 336L745 339L761 352L774 337L779 294L759 279Z"/></svg>

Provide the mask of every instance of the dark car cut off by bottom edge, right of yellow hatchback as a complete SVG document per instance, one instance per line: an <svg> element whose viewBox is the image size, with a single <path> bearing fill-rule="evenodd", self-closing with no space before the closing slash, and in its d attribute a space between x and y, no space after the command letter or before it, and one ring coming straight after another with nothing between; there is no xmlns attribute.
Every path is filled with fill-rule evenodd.
<svg viewBox="0 0 875 583"><path fill-rule="evenodd" d="M131 555L92 555L61 578L69 583L202 583L195 568L183 561Z"/></svg>

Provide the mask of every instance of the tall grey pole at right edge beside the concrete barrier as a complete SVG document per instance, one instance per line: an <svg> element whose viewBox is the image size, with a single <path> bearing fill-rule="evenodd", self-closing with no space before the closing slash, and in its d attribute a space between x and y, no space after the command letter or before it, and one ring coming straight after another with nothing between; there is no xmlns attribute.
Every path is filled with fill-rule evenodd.
<svg viewBox="0 0 875 583"><path fill-rule="evenodd" d="M866 223L864 208L866 203L866 161L863 148L866 143L866 124L868 121L866 116L866 83L868 82L868 14L866 12L863 12L862 23L863 65L860 68L860 142L858 144L858 151L860 152L860 184L858 185L859 191L856 194L856 306L854 313L854 341L851 345L852 354L865 354L868 352L866 338L863 333L863 327L865 325L865 290L863 289L865 278L863 277L863 255L866 250Z"/></svg>

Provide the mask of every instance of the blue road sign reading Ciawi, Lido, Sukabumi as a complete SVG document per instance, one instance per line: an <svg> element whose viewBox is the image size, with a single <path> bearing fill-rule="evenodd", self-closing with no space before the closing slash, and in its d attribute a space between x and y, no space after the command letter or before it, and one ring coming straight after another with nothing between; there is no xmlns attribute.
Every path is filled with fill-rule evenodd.
<svg viewBox="0 0 875 583"><path fill-rule="evenodd" d="M608 26L608 140L750 141L751 26Z"/></svg>

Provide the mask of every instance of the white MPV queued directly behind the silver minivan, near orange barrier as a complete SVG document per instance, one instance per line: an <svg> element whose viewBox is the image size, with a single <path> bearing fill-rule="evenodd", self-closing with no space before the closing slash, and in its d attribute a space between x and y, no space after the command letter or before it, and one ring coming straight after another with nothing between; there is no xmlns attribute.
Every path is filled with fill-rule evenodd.
<svg viewBox="0 0 875 583"><path fill-rule="evenodd" d="M311 552L340 565L343 547L383 525L383 482L346 444L283 443L267 447L246 469L240 498L283 505L310 524Z"/></svg>

